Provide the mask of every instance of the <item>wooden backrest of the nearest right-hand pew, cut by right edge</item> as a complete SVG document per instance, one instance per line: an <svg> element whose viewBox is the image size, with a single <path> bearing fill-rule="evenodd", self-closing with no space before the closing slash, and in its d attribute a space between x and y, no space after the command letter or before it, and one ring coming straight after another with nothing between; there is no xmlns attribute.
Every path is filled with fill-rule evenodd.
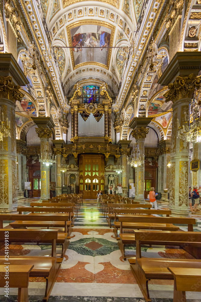
<svg viewBox="0 0 201 302"><path fill-rule="evenodd" d="M168 241L171 242L171 245L178 245L178 242L181 242L181 245L187 246L188 243L195 243L195 246L201 245L201 232L184 232L184 231L154 231L154 230L134 230L135 240L136 240L136 258L141 258L141 244L146 241L146 244L152 243L155 241L155 245L167 245ZM153 244L153 243L152 243Z"/></svg>

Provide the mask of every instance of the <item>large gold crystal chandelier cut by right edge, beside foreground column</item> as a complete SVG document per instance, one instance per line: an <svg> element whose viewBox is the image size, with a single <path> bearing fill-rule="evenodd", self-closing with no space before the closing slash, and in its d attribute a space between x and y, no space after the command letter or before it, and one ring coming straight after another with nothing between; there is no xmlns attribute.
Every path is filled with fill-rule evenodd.
<svg viewBox="0 0 201 302"><path fill-rule="evenodd" d="M177 138L186 142L201 142L201 88L195 89L193 100L190 103L190 118L187 119L187 113L184 112L184 124L180 127L177 118ZM190 122L190 125L189 125Z"/></svg>

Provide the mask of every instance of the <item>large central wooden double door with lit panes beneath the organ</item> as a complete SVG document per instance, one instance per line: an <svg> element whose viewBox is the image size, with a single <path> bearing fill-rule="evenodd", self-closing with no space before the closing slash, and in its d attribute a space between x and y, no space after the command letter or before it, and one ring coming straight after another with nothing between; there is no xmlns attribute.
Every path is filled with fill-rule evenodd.
<svg viewBox="0 0 201 302"><path fill-rule="evenodd" d="M79 178L83 199L96 199L97 193L104 190L104 164L103 155L80 155Z"/></svg>

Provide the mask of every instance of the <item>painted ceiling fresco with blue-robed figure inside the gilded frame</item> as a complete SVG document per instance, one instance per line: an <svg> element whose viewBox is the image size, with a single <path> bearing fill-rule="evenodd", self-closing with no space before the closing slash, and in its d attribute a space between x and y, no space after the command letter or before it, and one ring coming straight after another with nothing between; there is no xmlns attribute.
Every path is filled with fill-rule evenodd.
<svg viewBox="0 0 201 302"><path fill-rule="evenodd" d="M83 24L70 29L70 37L75 66L84 62L107 65L110 28L96 24Z"/></svg>

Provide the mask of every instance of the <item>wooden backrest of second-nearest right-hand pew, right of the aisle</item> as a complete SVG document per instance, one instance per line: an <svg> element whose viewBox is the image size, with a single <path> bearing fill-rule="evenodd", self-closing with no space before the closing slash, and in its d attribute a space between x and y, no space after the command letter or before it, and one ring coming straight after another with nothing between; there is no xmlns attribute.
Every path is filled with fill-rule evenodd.
<svg viewBox="0 0 201 302"><path fill-rule="evenodd" d="M172 223L187 224L188 231L193 232L193 224L196 224L195 218L179 218L179 217L135 217L134 215L121 216L118 215L120 222L133 223Z"/></svg>

